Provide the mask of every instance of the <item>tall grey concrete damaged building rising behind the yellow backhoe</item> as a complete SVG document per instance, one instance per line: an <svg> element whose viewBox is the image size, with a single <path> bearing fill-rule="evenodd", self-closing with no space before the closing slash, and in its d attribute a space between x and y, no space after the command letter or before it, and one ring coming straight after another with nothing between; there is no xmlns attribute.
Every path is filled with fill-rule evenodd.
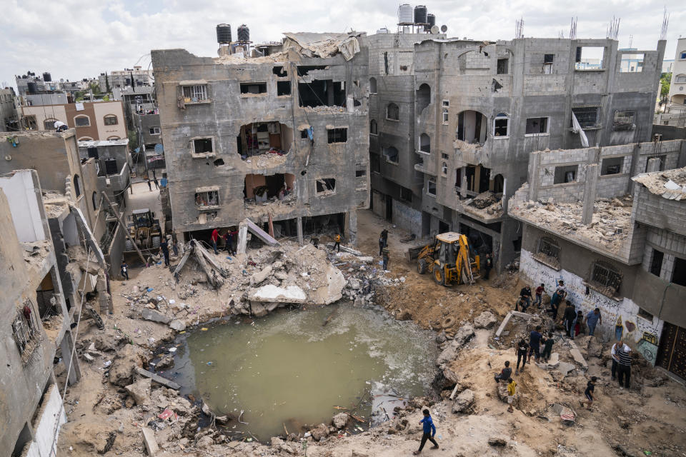
<svg viewBox="0 0 686 457"><path fill-rule="evenodd" d="M625 72L612 39L384 35L369 37L372 207L418 237L465 233L500 268L520 250L507 201L530 152L650 139L665 41L626 51L644 64Z"/></svg>

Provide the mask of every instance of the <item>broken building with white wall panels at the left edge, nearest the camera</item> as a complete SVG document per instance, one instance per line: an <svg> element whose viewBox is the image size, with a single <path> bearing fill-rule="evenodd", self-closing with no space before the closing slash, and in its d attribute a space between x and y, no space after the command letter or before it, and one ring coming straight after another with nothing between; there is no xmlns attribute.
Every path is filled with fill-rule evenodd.
<svg viewBox="0 0 686 457"><path fill-rule="evenodd" d="M6 455L47 456L66 422L54 358L59 351L64 367L71 363L77 306L62 288L36 171L0 177L0 230L0 446ZM79 377L74 358L69 383Z"/></svg>

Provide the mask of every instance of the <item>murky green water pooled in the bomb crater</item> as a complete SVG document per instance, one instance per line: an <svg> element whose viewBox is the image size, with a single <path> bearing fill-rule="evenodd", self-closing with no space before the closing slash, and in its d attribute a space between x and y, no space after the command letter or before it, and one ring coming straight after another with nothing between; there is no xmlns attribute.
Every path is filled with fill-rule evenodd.
<svg viewBox="0 0 686 457"><path fill-rule="evenodd" d="M369 391L379 382L417 396L434 376L430 332L348 303L207 328L179 346L174 378L218 416L244 411L248 424L234 422L228 430L249 431L260 441L282 434L284 424L298 433L304 423L329 423L342 411L334 406L352 410L363 399L355 414L369 421Z"/></svg>

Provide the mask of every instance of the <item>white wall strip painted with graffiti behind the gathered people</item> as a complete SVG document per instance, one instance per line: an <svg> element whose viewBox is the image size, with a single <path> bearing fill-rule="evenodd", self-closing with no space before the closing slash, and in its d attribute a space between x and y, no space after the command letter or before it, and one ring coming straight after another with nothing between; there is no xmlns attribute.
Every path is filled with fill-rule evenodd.
<svg viewBox="0 0 686 457"><path fill-rule="evenodd" d="M532 253L524 249L520 258L520 273L529 278L534 285L544 283L549 293L555 291L557 281L565 281L567 299L572 301L577 309L580 308L584 315L600 308L602 324L599 323L598 328L606 339L628 338L630 341L638 342L645 333L659 335L662 331L662 321L659 319L653 318L652 321L648 321L637 316L639 306L630 298L617 301L602 295L588 288L580 276L565 269L555 271L536 261ZM655 363L655 358L652 363Z"/></svg>

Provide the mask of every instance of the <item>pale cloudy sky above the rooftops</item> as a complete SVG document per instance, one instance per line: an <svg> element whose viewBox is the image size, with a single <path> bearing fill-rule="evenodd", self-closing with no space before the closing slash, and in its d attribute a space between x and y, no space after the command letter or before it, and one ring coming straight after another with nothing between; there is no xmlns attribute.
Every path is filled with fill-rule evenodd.
<svg viewBox="0 0 686 457"><path fill-rule="evenodd" d="M570 6L574 5L574 8ZM185 48L216 56L214 26L240 24L252 41L280 40L283 31L367 31L394 29L397 1L234 1L234 0L0 0L0 84L14 75L49 71L53 79L76 80L102 71L148 66L150 49ZM504 0L484 4L456 0L427 3L449 36L512 39L515 19L525 36L568 36L578 17L577 38L604 38L612 16L621 17L620 47L655 49L663 8L670 14L665 58L673 59L676 39L686 36L683 0Z"/></svg>

